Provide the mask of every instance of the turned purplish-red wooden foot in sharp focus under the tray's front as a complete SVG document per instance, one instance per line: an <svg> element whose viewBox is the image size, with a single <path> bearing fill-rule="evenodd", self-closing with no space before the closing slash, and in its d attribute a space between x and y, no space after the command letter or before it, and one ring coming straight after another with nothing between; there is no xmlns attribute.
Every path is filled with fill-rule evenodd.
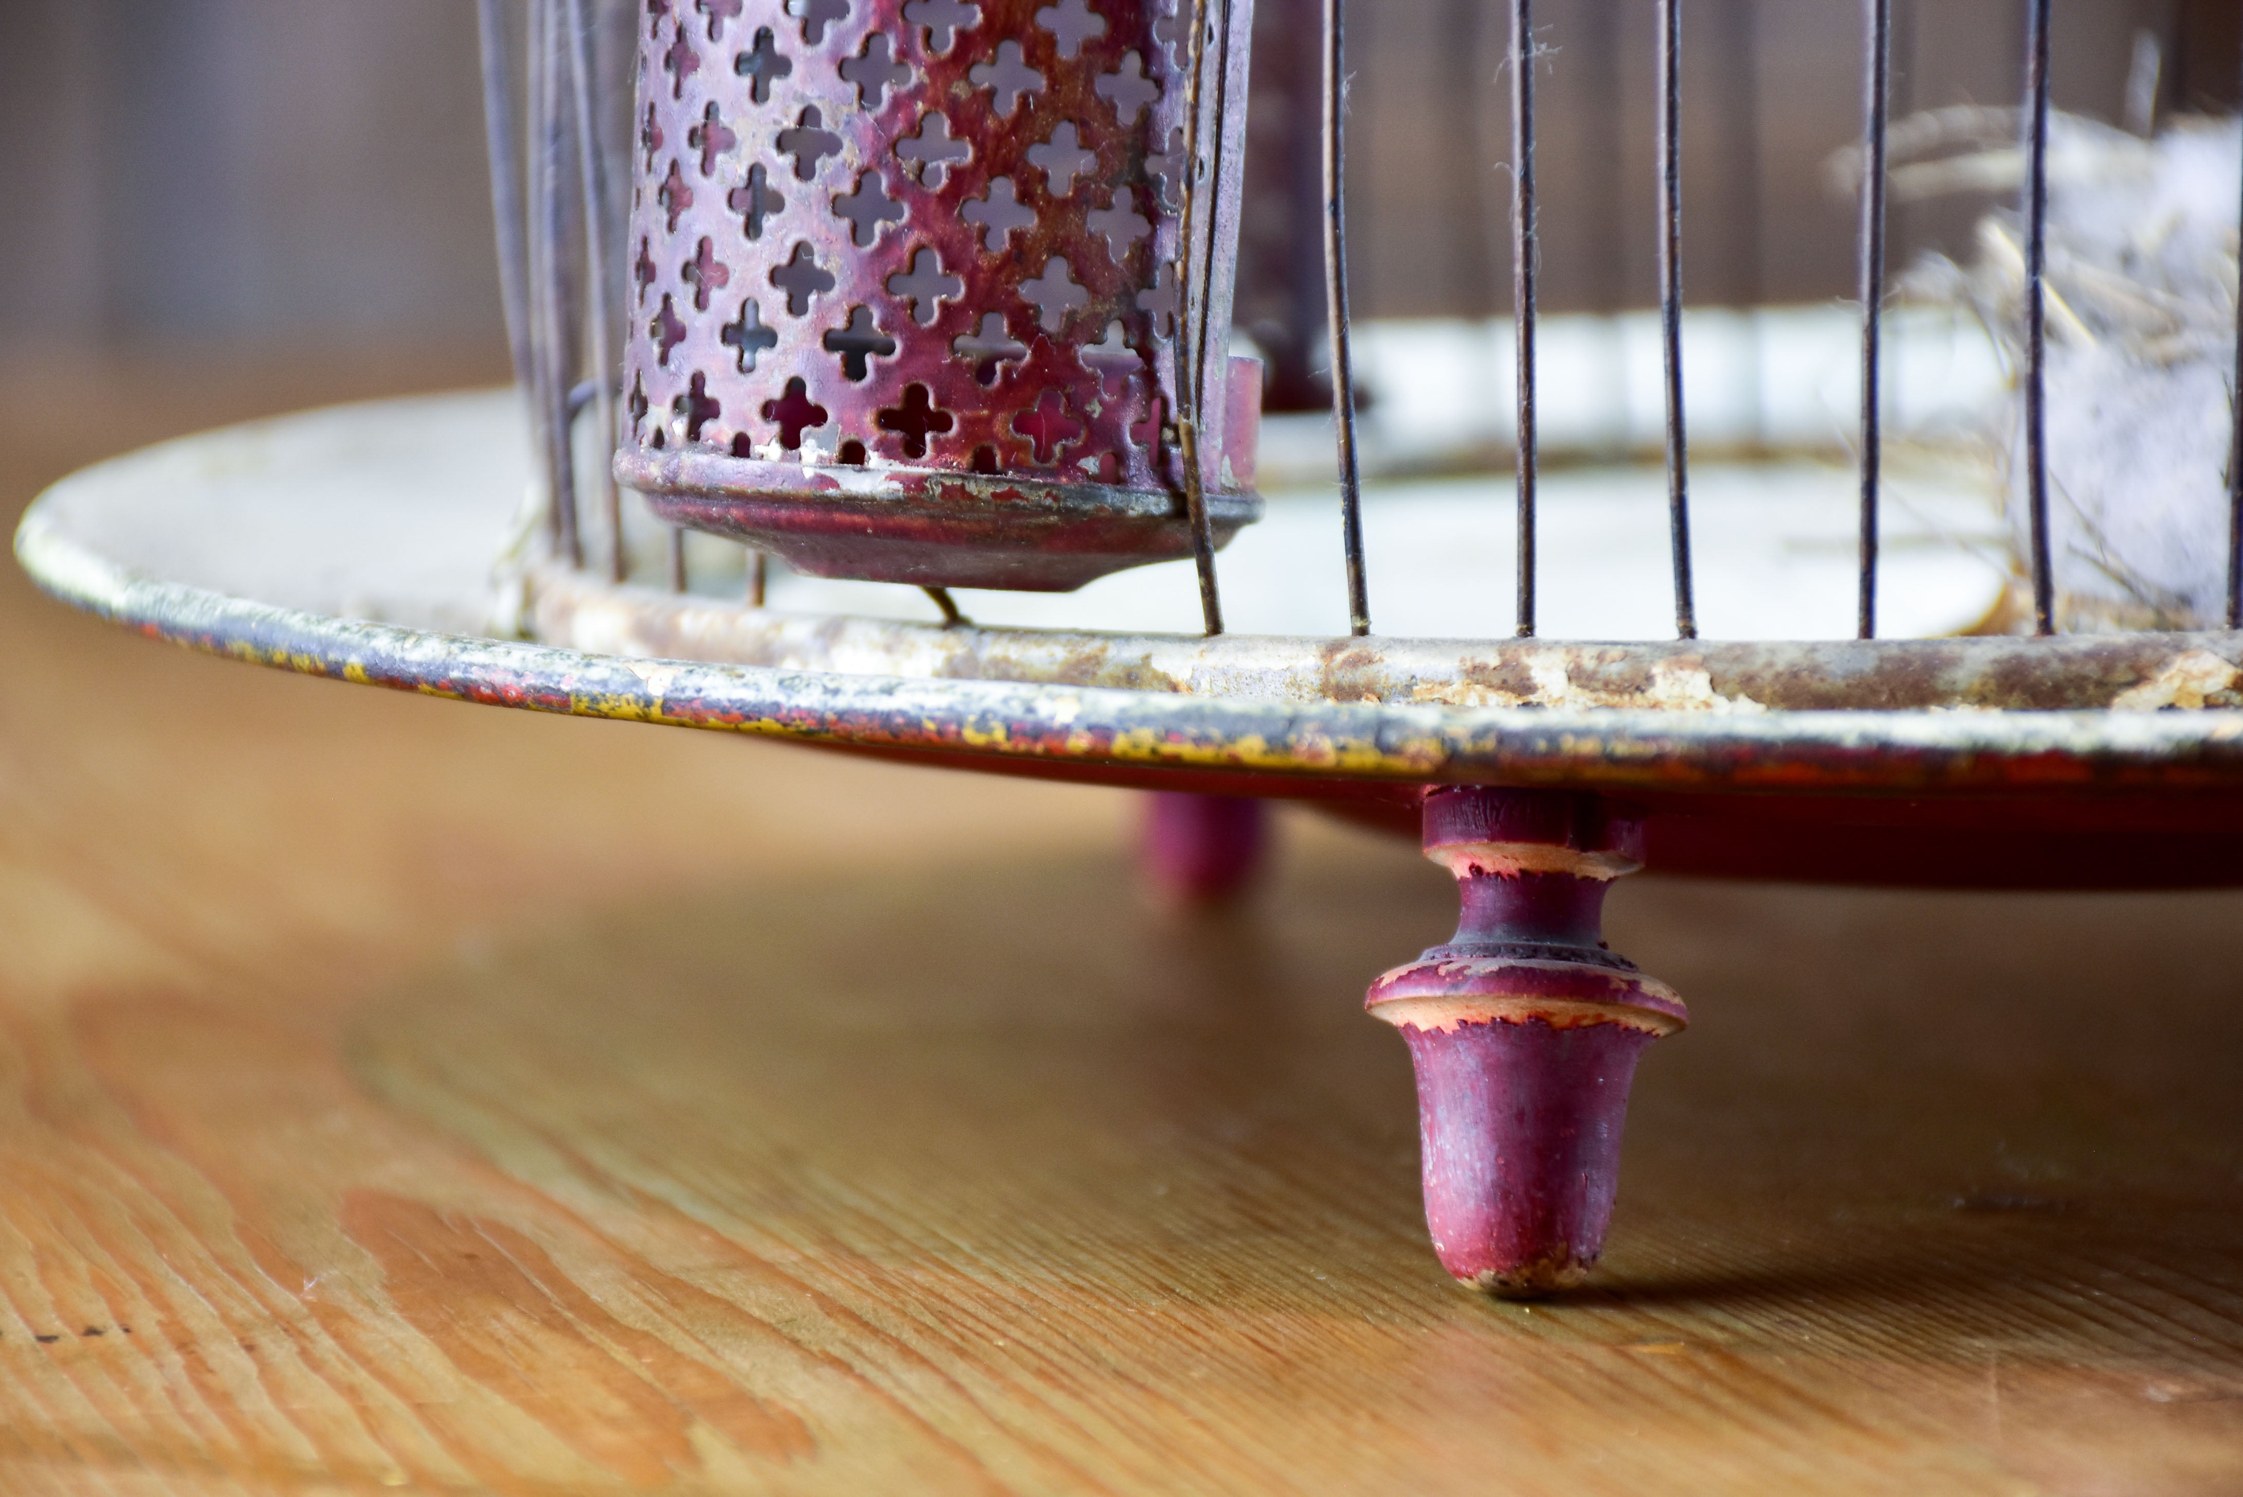
<svg viewBox="0 0 2243 1497"><path fill-rule="evenodd" d="M1579 1284L1604 1250L1635 1062L1689 1021L1606 949L1604 891L1642 821L1595 795L1433 790L1424 855L1456 875L1456 938L1370 985L1418 1068L1424 1219L1460 1282Z"/></svg>

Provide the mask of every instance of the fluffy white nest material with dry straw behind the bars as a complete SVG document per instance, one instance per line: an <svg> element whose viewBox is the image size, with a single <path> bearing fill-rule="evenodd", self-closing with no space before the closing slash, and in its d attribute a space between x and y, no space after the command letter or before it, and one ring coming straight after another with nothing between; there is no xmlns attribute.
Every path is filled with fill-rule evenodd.
<svg viewBox="0 0 2243 1497"><path fill-rule="evenodd" d="M2014 193L2025 168L2016 141L2014 110L1918 114L1893 128L1891 191ZM2050 119L2048 530L2066 631L2212 628L2225 617L2239 202L2236 119L2182 119L2156 139ZM1974 310L2010 361L2014 399L1987 442L2023 577L2021 215L1990 213L1967 269L1929 256L1902 290Z"/></svg>

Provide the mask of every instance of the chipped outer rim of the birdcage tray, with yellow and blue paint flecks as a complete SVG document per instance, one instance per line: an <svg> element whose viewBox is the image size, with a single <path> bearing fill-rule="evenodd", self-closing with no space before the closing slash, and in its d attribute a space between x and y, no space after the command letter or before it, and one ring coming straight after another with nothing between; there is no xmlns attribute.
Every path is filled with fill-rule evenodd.
<svg viewBox="0 0 2243 1497"><path fill-rule="evenodd" d="M1240 702L1110 687L626 660L327 617L164 581L34 505L16 532L54 597L157 640L428 696L814 743L1296 783L1664 792L2234 790L2243 711L1765 711Z"/></svg>

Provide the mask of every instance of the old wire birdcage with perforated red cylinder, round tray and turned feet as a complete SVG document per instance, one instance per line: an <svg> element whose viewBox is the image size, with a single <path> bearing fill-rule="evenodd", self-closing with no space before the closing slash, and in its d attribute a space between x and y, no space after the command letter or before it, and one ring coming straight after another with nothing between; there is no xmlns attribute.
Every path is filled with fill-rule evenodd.
<svg viewBox="0 0 2243 1497"><path fill-rule="evenodd" d="M1337 458L1281 507L1256 496L1274 429L1256 433L1258 368L1229 337L1252 0L534 0L525 45L482 0L525 399L319 413L126 458L49 492L18 554L83 608L296 671L1153 790L1148 864L1184 893L1245 878L1261 799L1411 830L1462 918L1368 1008L1418 1068L1436 1250L1483 1288L1561 1288L1602 1248L1637 1057L1687 1021L1604 945L1615 878L2243 878L2243 433L2200 476L2225 541L2194 561L2223 575L2225 626L2059 633L2050 536L2077 516L2050 487L2048 319L2070 310L2048 290L2050 7L2030 0L2012 447L2030 633L1907 608L1904 637L1880 633L1907 516L1884 503L1891 16L1864 0L1859 406L1850 518L1821 536L1844 561L1754 552L1759 570L1700 588L1684 352L1709 325L1684 314L1680 0L1658 0L1655 503L1613 512L1633 539L1606 525L1584 548L1543 503L1561 341L1536 316L1530 4L1507 16L1498 375L1422 339L1379 352L1350 321L1346 25L1323 0L1312 186ZM1366 543L1384 500L1364 498L1359 352L1480 404L1505 388L1501 509L1487 485L1397 503L1388 550ZM1222 550L1265 514L1279 539ZM1494 514L1503 577L1474 570ZM1767 512L1725 523L1750 541ZM211 543L227 534L260 543ZM1552 536L1586 552L1563 586ZM1458 617L1478 624L1375 633L1395 557L1388 613L1469 595L1480 613ZM1099 588L1169 559L1130 572L1151 604L1117 626ZM1162 581L1184 561L1193 586ZM1821 606L1844 595L1853 637L1700 637L1801 575ZM1032 613L989 593L982 622L953 593L1099 577ZM1225 628L1227 601L1310 595L1339 626ZM1671 599L1664 640L1577 624L1651 595ZM1189 619L1142 622L1180 597Z"/></svg>

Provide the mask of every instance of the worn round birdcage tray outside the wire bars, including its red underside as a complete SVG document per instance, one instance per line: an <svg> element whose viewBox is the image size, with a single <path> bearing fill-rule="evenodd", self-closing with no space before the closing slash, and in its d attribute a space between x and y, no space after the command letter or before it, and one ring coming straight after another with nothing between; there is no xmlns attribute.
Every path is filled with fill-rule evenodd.
<svg viewBox="0 0 2243 1497"><path fill-rule="evenodd" d="M153 637L476 702L1368 819L1427 783L1575 786L1651 812L1653 866L1727 875L2243 882L2232 633L1541 644L790 617L493 572L527 451L496 393L258 422L67 478L16 552ZM532 622L599 649L509 637Z"/></svg>

